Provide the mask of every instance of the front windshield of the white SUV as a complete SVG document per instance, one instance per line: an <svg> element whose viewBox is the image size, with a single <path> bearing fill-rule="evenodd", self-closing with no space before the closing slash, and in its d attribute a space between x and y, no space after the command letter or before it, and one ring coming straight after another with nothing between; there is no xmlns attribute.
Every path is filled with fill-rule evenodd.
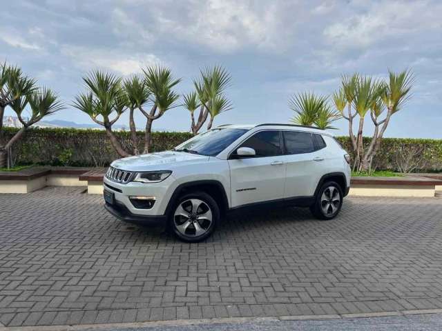
<svg viewBox="0 0 442 331"><path fill-rule="evenodd" d="M173 150L178 152L189 152L194 154L214 157L220 154L224 148L227 148L233 141L236 141L248 130L246 129L228 129L220 128L206 131L198 136L184 141Z"/></svg>

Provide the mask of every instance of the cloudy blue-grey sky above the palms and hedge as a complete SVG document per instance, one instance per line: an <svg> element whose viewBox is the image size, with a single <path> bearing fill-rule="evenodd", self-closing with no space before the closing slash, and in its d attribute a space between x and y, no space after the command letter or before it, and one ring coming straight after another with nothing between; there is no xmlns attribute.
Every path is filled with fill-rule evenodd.
<svg viewBox="0 0 442 331"><path fill-rule="evenodd" d="M0 61L21 66L67 105L48 119L93 123L69 106L81 77L102 69L121 77L169 66L192 90L200 68L232 76L233 109L224 123L287 123L289 98L329 95L342 74L384 78L409 68L412 99L394 114L386 137L442 139L441 0L15 0L0 11ZM144 117L137 114L137 126ZM124 115L118 123L128 122ZM372 128L367 117L366 135ZM190 114L169 110L153 129L189 130ZM334 134L347 134L336 122Z"/></svg>

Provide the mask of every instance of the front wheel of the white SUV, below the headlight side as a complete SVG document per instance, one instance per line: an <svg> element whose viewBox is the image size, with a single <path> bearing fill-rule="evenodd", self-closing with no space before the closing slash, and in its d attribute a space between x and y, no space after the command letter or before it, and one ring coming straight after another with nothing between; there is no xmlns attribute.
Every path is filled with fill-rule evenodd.
<svg viewBox="0 0 442 331"><path fill-rule="evenodd" d="M215 230L220 220L220 208L205 192L185 194L170 215L171 229L175 235L189 243L202 241Z"/></svg>

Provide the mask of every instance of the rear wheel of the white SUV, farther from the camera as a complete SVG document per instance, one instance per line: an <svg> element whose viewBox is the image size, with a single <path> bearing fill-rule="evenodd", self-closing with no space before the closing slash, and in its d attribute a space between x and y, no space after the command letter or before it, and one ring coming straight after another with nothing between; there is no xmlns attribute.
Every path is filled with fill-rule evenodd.
<svg viewBox="0 0 442 331"><path fill-rule="evenodd" d="M310 211L318 219L333 219L343 205L343 190L334 181L324 183L315 197Z"/></svg>

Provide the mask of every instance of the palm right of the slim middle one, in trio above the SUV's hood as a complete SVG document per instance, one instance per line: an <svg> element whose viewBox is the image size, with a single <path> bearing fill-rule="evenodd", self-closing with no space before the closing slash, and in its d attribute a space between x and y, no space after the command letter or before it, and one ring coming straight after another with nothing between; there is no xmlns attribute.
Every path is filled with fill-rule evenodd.
<svg viewBox="0 0 442 331"><path fill-rule="evenodd" d="M181 79L174 79L171 69L164 66L151 66L144 69L143 72L144 82L151 92L149 99L153 104L150 112L146 112L140 107L147 119L146 132L144 132L144 154L146 154L151 146L153 121L162 117L167 110L178 106L175 101L180 98L180 94L177 94L173 88L177 83L180 83Z"/></svg>

